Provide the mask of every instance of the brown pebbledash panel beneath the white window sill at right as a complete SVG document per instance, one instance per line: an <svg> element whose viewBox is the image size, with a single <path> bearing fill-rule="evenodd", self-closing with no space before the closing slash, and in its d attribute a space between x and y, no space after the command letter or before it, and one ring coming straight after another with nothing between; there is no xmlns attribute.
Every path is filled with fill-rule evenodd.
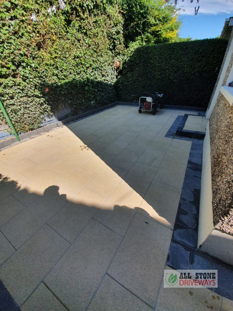
<svg viewBox="0 0 233 311"><path fill-rule="evenodd" d="M214 225L233 234L233 106L219 93L209 119Z"/></svg>

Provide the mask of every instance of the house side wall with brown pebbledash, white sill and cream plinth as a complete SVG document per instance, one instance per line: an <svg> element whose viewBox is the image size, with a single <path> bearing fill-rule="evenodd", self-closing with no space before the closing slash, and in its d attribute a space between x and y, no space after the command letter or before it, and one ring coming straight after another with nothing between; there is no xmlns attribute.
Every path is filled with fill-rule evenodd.
<svg viewBox="0 0 233 311"><path fill-rule="evenodd" d="M233 31L211 96L203 143L199 248L233 265Z"/></svg>

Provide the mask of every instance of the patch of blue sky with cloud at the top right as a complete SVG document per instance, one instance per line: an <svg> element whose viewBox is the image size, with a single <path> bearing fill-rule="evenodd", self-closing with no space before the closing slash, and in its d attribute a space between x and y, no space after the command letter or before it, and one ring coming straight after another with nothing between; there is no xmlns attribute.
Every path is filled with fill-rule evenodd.
<svg viewBox="0 0 233 311"><path fill-rule="evenodd" d="M233 0L232 0L233 1ZM185 9L180 12L183 21L180 37L192 39L215 38L222 32L226 18L233 16L233 2L231 0L199 0L199 11L194 16L194 7L197 1L177 1L177 7Z"/></svg>

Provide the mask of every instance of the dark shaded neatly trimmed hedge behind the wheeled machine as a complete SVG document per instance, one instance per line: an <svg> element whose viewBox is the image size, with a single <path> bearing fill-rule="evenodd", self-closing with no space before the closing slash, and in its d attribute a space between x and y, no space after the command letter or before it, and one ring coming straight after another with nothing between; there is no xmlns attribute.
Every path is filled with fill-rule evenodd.
<svg viewBox="0 0 233 311"><path fill-rule="evenodd" d="M228 41L204 39L143 46L124 64L117 80L119 100L132 94L164 93L165 104L206 108Z"/></svg>

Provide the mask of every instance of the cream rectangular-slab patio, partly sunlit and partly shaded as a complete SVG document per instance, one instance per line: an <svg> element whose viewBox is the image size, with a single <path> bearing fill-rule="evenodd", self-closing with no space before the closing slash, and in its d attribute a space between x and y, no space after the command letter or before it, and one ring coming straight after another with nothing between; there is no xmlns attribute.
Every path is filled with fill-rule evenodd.
<svg viewBox="0 0 233 311"><path fill-rule="evenodd" d="M0 152L0 280L22 311L233 310L163 288L191 148L165 135L184 114L115 106Z"/></svg>

